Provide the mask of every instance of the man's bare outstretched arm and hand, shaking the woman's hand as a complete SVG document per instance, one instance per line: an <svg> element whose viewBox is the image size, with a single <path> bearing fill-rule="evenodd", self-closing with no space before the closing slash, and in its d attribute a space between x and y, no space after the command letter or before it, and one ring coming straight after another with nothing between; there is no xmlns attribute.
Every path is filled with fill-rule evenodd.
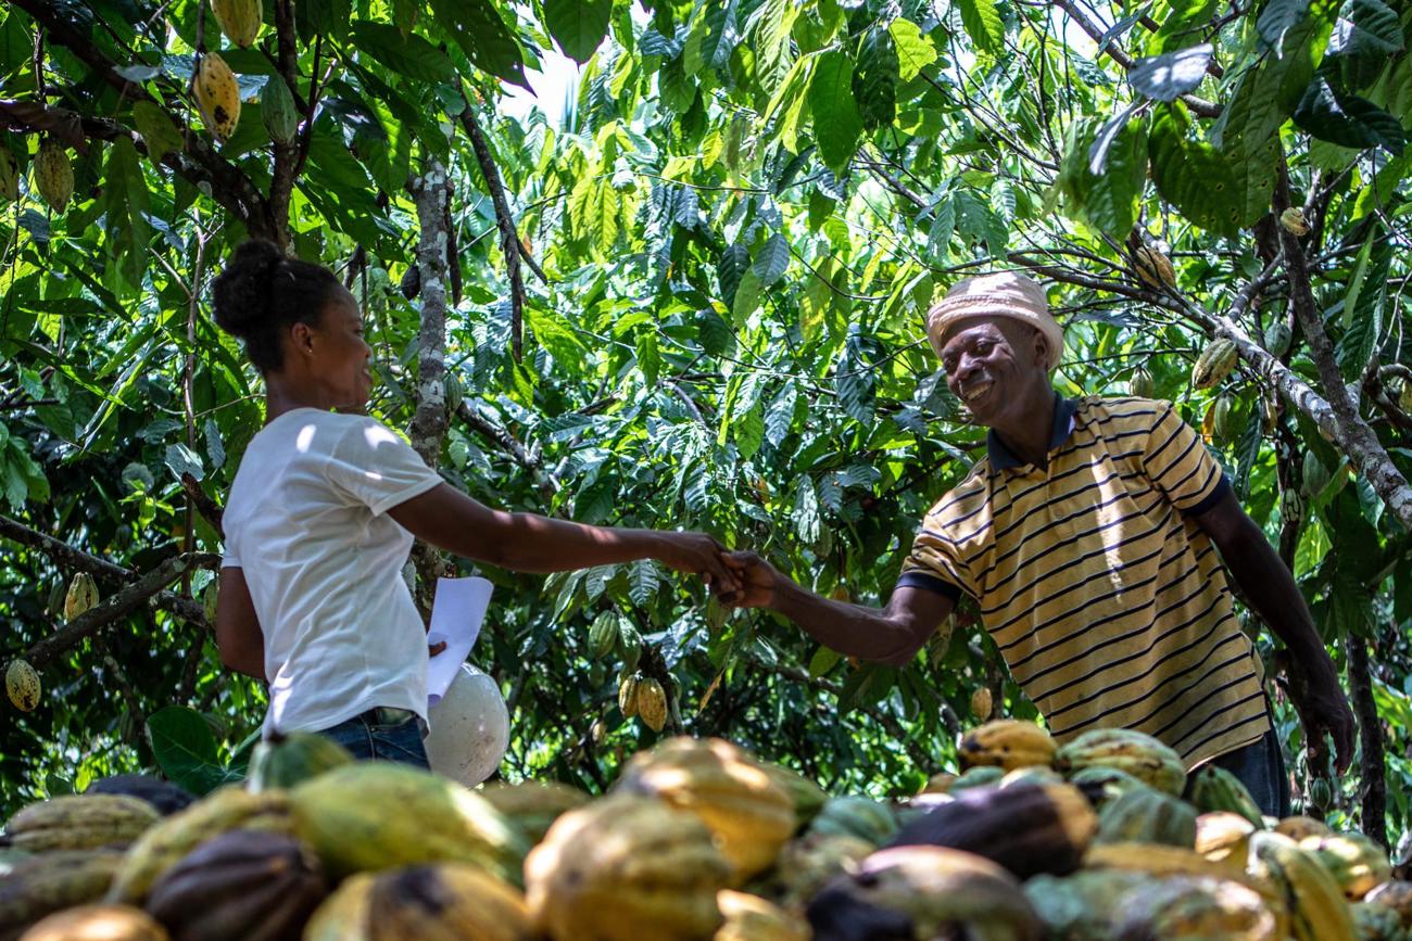
<svg viewBox="0 0 1412 941"><path fill-rule="evenodd" d="M860 660L907 666L955 605L947 595L914 587L895 588L884 608L832 601L802 588L753 552L722 557L744 585L733 607L782 614L819 643Z"/></svg>

